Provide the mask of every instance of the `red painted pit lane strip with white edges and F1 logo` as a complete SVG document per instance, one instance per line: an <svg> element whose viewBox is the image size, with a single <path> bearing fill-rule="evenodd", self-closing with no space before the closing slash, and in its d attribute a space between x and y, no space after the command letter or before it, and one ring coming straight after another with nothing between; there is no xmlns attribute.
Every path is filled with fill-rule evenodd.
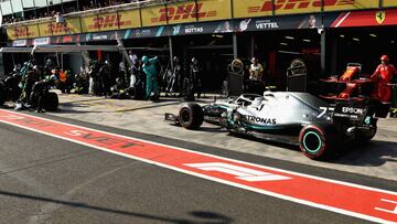
<svg viewBox="0 0 397 224"><path fill-rule="evenodd" d="M385 205L385 202L397 201L396 192L258 166L3 109L0 109L0 121L278 199L373 222L397 222L397 214L390 205ZM211 163L213 169L203 170L189 166L201 164L203 168L205 163ZM217 164L215 170L214 163ZM218 170L219 164L224 170ZM225 168L225 164L228 167ZM230 169L245 172L237 174L230 172ZM259 174L265 173L289 179L249 181L249 178L255 179L256 174L260 177ZM248 179L244 179L244 175Z"/></svg>

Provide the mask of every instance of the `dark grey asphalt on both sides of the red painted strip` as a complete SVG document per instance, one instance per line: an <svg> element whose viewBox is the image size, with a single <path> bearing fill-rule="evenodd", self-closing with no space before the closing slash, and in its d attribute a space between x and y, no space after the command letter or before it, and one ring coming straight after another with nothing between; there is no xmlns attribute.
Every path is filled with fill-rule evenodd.
<svg viewBox="0 0 397 224"><path fill-rule="evenodd" d="M394 181L49 114L30 114L232 159L397 191ZM0 124L0 223L366 223L6 124Z"/></svg>

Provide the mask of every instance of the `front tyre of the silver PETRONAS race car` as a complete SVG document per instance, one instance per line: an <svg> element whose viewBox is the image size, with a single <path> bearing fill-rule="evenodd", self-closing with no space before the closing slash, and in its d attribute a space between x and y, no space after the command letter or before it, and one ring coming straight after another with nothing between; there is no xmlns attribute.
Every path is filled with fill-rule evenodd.
<svg viewBox="0 0 397 224"><path fill-rule="evenodd" d="M204 113L197 104L184 104L179 111L179 121L186 129L198 129L204 121Z"/></svg>

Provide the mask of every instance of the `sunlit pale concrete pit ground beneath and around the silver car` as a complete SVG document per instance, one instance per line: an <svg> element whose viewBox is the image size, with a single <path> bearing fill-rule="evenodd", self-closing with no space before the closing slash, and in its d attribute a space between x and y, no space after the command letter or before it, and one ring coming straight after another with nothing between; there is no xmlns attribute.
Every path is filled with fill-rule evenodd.
<svg viewBox="0 0 397 224"><path fill-rule="evenodd" d="M180 99L161 97L160 103L120 100L87 95L60 94L60 109L50 115L99 124L120 129L151 134L200 145L287 160L314 167L397 180L397 119L380 119L378 132L367 145L354 147L345 154L328 161L305 158L298 148L260 142L227 135L217 126L204 124L200 130L186 130L164 121L164 113L178 113ZM210 103L207 97L200 104Z"/></svg>

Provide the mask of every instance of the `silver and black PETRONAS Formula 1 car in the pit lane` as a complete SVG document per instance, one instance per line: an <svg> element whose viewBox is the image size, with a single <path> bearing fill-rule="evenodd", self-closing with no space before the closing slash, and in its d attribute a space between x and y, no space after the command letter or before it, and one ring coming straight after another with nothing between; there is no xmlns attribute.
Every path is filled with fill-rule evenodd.
<svg viewBox="0 0 397 224"><path fill-rule="evenodd" d="M386 117L387 110L371 99L329 104L309 93L265 92L205 106L186 103L178 115L165 114L165 120L186 129L215 122L233 134L298 145L304 156L323 160L341 142L371 140L377 117Z"/></svg>

